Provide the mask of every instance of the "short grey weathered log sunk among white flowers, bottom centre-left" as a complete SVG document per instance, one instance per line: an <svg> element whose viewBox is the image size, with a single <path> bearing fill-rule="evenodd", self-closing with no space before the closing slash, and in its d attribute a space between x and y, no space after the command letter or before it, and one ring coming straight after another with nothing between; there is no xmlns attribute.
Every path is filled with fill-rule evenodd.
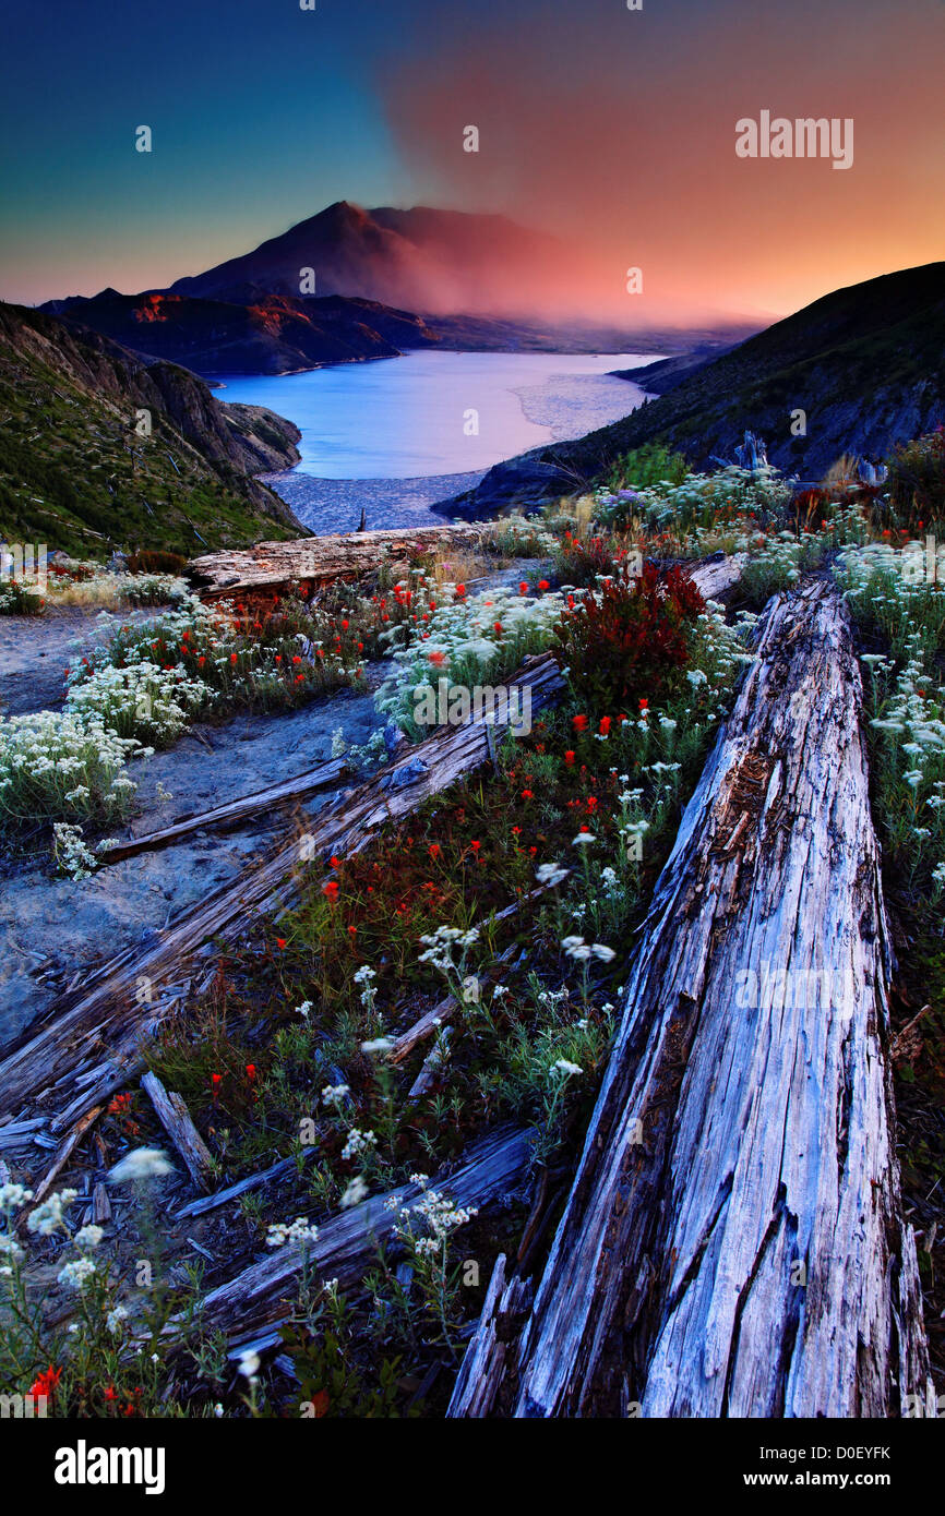
<svg viewBox="0 0 945 1516"><path fill-rule="evenodd" d="M523 1128L499 1128L473 1143L460 1166L438 1173L429 1189L444 1192L460 1207L482 1207L502 1199L520 1182L531 1148L531 1132ZM416 1205L422 1195L416 1184L402 1184L388 1195L375 1195L320 1225L317 1240L308 1245L312 1278L338 1280L343 1290L361 1284L378 1248L396 1249L394 1228L402 1225L399 1210ZM202 1326L244 1336L284 1320L302 1263L302 1251L294 1245L273 1249L234 1280L209 1292L200 1311Z"/></svg>

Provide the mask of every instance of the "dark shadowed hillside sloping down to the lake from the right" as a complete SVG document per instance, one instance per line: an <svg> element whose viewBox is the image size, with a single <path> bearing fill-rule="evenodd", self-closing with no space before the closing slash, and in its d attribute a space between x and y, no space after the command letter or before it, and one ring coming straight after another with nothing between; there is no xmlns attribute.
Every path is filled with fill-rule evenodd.
<svg viewBox="0 0 945 1516"><path fill-rule="evenodd" d="M670 385L622 421L498 464L441 509L479 515L548 499L657 440L704 468L731 459L746 428L766 440L772 464L804 479L843 453L881 459L945 423L945 262L837 290ZM792 437L798 409L805 437Z"/></svg>

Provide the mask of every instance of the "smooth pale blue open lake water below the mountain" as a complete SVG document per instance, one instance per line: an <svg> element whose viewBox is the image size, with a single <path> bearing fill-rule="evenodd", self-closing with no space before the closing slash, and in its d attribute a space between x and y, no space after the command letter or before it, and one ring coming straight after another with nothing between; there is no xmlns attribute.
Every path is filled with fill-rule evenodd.
<svg viewBox="0 0 945 1516"><path fill-rule="evenodd" d="M608 370L651 361L652 353L416 352L300 374L224 376L215 394L267 405L296 423L296 476L422 479L484 471L616 421L643 391Z"/></svg>

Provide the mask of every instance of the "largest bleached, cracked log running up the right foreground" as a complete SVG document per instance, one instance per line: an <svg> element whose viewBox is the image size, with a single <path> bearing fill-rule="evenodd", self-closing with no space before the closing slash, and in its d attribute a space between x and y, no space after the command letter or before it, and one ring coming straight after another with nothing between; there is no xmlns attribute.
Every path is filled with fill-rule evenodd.
<svg viewBox="0 0 945 1516"><path fill-rule="evenodd" d="M516 1416L869 1417L930 1393L840 596L775 597L757 653L657 884Z"/></svg>

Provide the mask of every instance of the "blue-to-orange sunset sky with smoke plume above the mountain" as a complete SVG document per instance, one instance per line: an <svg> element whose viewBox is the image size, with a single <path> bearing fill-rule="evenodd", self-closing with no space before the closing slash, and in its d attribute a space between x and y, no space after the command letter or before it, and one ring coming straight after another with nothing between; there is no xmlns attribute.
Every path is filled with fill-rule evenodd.
<svg viewBox="0 0 945 1516"><path fill-rule="evenodd" d="M945 0L6 0L5 55L21 303L159 288L341 199L552 232L570 273L523 302L629 324L945 256ZM763 111L851 118L852 167L739 158Z"/></svg>

